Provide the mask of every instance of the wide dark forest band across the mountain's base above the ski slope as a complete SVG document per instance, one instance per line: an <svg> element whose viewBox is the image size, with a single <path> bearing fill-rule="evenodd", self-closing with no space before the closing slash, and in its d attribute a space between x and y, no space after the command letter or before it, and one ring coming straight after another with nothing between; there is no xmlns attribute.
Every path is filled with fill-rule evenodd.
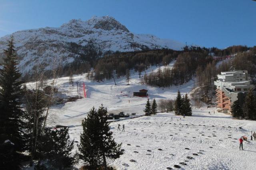
<svg viewBox="0 0 256 170"><path fill-rule="evenodd" d="M205 47L184 47L183 51L170 49L149 50L133 52L113 52L102 53L100 45L93 39L87 45L77 43L67 43L66 49L72 53L74 62L62 66L59 75L70 76L72 74L88 73L87 78L104 81L113 76L120 78L126 76L126 69L138 71L139 76L143 76L144 82L151 86L167 87L173 84L183 84L195 76L196 69L200 66L203 70L206 64L212 62L211 53L216 56L226 56L234 53L252 50L246 46L231 46L226 49L205 48ZM174 59L174 68L159 70L157 74L151 73L144 76L144 70L152 65L167 65ZM93 70L92 70L93 68ZM46 74L48 78L51 74ZM26 75L24 80L31 80L31 75Z"/></svg>

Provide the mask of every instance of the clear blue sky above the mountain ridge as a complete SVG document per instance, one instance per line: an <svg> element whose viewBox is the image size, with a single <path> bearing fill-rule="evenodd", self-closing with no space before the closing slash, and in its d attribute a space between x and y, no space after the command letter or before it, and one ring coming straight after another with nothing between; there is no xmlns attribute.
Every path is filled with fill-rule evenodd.
<svg viewBox="0 0 256 170"><path fill-rule="evenodd" d="M0 0L0 37L112 16L134 33L204 47L256 45L253 0Z"/></svg>

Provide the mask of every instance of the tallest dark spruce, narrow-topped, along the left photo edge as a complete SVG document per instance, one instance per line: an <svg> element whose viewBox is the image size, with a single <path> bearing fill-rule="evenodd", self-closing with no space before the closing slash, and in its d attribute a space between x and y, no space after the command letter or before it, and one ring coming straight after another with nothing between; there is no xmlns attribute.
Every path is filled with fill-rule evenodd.
<svg viewBox="0 0 256 170"><path fill-rule="evenodd" d="M10 140L14 144L13 152L15 155L12 160L6 161L12 161L10 164L16 166L12 169L18 169L20 162L18 153L24 150L23 123L21 119L23 111L20 105L23 89L13 37L10 38L7 46L7 49L4 50L6 57L0 66L0 144L6 140ZM1 160L1 162L4 161Z"/></svg>

